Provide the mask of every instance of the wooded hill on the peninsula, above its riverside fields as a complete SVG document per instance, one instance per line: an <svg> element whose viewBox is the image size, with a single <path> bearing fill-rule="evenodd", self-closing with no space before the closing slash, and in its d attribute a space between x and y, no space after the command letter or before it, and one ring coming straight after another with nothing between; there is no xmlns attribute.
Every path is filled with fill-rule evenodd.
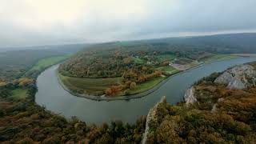
<svg viewBox="0 0 256 144"><path fill-rule="evenodd" d="M134 69L139 75L141 74L141 67L146 65L145 62L152 62L157 65L176 57L190 58L193 54L204 53L202 51L199 53L196 50L189 50L189 52L169 45L158 47L154 44L134 43L123 46L122 43L118 42L103 43L92 45L74 55L59 67L59 71L63 75L78 78L120 77L131 69ZM132 61L127 61L130 58ZM184 61L188 61L187 58ZM151 69L144 71L146 74L150 74L152 66L149 68Z"/></svg>

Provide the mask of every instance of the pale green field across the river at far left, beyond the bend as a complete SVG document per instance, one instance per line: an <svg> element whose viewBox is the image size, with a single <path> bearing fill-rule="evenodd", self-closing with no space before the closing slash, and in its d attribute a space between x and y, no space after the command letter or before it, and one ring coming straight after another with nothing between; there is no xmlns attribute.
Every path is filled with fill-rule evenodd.
<svg viewBox="0 0 256 144"><path fill-rule="evenodd" d="M66 58L70 58L70 56L71 56L71 54L65 54L62 56L43 58L43 59L39 60L30 70L28 70L28 73L30 73L34 70L42 70L48 66L52 66L58 62L62 62Z"/></svg>

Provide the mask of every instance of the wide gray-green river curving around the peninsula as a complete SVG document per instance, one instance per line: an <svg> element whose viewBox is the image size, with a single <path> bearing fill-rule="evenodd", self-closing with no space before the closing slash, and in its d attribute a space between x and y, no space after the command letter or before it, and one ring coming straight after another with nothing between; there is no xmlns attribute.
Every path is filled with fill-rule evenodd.
<svg viewBox="0 0 256 144"><path fill-rule="evenodd" d="M38 76L38 93L35 96L35 101L56 114L62 114L66 118L76 116L85 122L97 124L113 120L135 122L139 116L146 115L162 96L165 95L168 102L175 104L182 101L185 90L198 79L214 71L223 71L230 66L252 61L256 61L256 58L236 58L206 64L169 78L158 90L143 98L110 102L79 98L68 93L58 83L55 73L58 65L55 65Z"/></svg>

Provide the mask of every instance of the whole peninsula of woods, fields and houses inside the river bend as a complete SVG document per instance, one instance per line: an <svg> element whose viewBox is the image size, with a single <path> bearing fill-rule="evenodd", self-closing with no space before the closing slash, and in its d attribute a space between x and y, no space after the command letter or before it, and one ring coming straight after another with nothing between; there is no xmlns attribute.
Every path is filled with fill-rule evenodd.
<svg viewBox="0 0 256 144"><path fill-rule="evenodd" d="M64 85L78 94L138 94L210 55L178 46L110 42L78 52L61 64L58 72Z"/></svg>

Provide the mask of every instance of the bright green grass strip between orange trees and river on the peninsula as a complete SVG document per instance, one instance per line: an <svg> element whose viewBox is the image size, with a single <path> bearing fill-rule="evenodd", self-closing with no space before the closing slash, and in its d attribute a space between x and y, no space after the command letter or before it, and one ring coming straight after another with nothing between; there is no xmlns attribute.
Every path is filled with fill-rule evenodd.
<svg viewBox="0 0 256 144"><path fill-rule="evenodd" d="M146 90L150 90L151 88L153 88L154 86L158 85L159 82L162 82L162 80L165 79L163 77L158 77L158 78L154 78L148 82L143 82L140 83L136 86L136 88L134 90L126 90L126 94L139 94L142 93Z"/></svg>

